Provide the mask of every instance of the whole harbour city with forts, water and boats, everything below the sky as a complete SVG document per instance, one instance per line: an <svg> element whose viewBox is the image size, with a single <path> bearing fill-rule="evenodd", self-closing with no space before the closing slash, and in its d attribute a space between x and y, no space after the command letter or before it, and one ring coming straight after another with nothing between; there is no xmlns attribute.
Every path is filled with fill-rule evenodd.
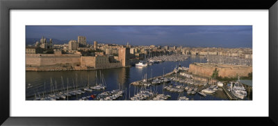
<svg viewBox="0 0 278 126"><path fill-rule="evenodd" d="M26 100L252 100L252 48L54 43L26 46Z"/></svg>

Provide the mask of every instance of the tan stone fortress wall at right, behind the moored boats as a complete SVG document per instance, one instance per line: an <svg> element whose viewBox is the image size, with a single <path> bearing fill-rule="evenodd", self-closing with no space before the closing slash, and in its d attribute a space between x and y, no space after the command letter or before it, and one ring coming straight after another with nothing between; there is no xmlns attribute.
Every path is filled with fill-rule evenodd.
<svg viewBox="0 0 278 126"><path fill-rule="evenodd" d="M237 74L239 76L248 76L248 73L252 72L252 66L234 66L222 64L190 64L189 72L193 73L194 75L211 77L215 68L218 69L219 76L228 78L234 78Z"/></svg>

